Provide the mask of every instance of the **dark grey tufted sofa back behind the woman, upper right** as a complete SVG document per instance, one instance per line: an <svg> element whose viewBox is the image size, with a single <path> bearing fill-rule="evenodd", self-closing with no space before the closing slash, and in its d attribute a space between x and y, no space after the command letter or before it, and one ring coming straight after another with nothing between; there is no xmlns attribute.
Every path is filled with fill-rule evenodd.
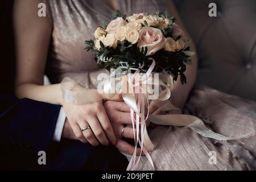
<svg viewBox="0 0 256 182"><path fill-rule="evenodd" d="M210 17L209 3L217 17ZM177 9L199 53L198 82L256 101L256 1L180 0Z"/></svg>

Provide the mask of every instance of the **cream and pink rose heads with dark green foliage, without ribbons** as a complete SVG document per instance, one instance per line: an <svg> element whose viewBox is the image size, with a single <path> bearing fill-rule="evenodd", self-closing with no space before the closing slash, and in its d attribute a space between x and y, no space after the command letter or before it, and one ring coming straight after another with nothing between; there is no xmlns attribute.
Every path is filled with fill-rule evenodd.
<svg viewBox="0 0 256 182"><path fill-rule="evenodd" d="M190 42L175 20L167 11L128 17L117 11L109 24L97 28L94 41L85 41L85 49L95 53L100 68L109 70L125 63L124 69L146 73L154 59L153 72L164 71L174 81L180 76L184 84L186 65L192 64L189 56L194 52L189 51Z"/></svg>

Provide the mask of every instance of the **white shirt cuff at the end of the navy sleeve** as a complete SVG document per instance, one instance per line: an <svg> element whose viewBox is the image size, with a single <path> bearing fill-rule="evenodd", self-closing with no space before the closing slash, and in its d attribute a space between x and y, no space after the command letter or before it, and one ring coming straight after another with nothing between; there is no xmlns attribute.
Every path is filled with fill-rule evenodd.
<svg viewBox="0 0 256 182"><path fill-rule="evenodd" d="M64 113L63 107L61 107L59 116L57 118L55 130L53 133L53 141L60 142L65 120L66 120L66 115Z"/></svg>

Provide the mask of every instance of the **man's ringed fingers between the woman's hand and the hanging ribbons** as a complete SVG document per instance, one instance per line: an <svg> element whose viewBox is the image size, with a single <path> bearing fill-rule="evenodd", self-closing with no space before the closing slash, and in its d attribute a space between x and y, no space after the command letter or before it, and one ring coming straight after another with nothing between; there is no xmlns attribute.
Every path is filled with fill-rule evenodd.
<svg viewBox="0 0 256 182"><path fill-rule="evenodd" d="M135 150L134 146L122 139L123 127L126 125L132 125L130 107L123 101L105 101L104 107L112 124L115 136L117 137L117 144L115 147L117 147L121 152L133 155ZM125 127L123 137L134 139L133 129L128 126ZM139 148L137 150L137 155L139 155L140 152L141 149Z"/></svg>

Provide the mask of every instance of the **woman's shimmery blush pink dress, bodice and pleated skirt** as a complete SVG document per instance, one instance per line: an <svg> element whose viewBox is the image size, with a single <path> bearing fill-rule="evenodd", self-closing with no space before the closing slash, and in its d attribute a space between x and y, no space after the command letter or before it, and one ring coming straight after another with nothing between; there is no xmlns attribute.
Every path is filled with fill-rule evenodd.
<svg viewBox="0 0 256 182"><path fill-rule="evenodd" d="M86 88L95 88L100 72L92 52L84 50L84 41L93 39L97 27L109 22L113 10L101 0L45 0L52 24L47 75L52 83L71 77ZM154 13L167 9L164 0L119 0L124 14ZM156 149L151 152L157 170L246 170L256 169L256 103L195 86L184 113L201 118L214 132L250 137L225 142L201 137L188 127L156 127L150 131ZM216 163L209 163L210 152ZM130 155L126 155L130 159ZM152 169L142 157L138 169Z"/></svg>

